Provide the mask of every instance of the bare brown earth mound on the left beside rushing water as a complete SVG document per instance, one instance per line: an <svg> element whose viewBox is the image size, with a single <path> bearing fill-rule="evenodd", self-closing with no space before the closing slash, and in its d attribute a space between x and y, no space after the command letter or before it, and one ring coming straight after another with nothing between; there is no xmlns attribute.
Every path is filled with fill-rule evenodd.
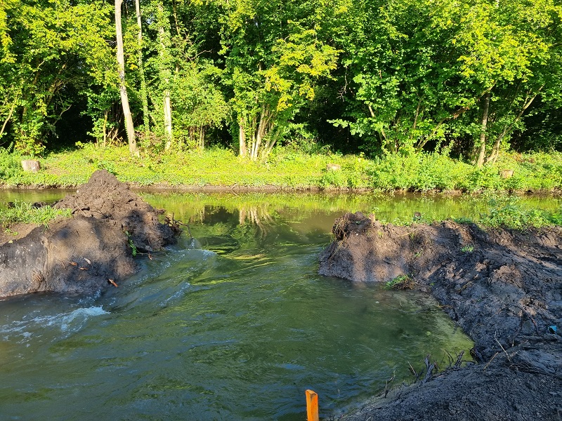
<svg viewBox="0 0 562 421"><path fill-rule="evenodd" d="M72 218L0 246L0 297L103 290L110 279L118 284L136 271L133 253L174 241L157 211L107 171L93 173L55 207L70 208Z"/></svg>

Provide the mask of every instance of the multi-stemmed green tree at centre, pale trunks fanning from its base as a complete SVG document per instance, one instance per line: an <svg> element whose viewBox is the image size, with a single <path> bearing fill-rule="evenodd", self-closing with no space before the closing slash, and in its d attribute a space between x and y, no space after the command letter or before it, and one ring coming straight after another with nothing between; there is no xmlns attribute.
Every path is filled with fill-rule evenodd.
<svg viewBox="0 0 562 421"><path fill-rule="evenodd" d="M323 0L223 4L225 83L232 90L241 156L265 158L314 98L318 80L336 68L339 52L322 28L335 13Z"/></svg>

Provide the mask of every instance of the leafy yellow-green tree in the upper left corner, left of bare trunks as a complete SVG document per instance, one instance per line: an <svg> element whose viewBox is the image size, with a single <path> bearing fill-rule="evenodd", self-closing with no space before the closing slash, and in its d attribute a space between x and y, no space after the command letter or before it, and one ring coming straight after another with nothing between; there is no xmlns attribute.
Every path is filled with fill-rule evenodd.
<svg viewBox="0 0 562 421"><path fill-rule="evenodd" d="M111 8L102 1L8 1L0 60L4 142L40 153L55 123L115 74ZM0 15L0 21L1 21Z"/></svg>

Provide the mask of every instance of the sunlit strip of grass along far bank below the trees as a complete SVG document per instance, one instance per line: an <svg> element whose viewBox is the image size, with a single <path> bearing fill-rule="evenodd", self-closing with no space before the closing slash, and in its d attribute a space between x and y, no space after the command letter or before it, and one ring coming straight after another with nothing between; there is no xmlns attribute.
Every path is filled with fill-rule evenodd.
<svg viewBox="0 0 562 421"><path fill-rule="evenodd" d="M95 147L48 154L39 159L39 173L24 173L22 156L0 149L0 180L4 186L72 187L93 171L106 169L119 180L141 186L227 186L284 189L379 189L391 191L485 189L550 192L562 189L562 154L504 154L495 165L475 168L439 154L363 156L308 155L279 149L266 163L241 159L227 149L201 152L142 154L136 159L126 147ZM341 166L329 171L327 164ZM502 170L513 171L502 178Z"/></svg>

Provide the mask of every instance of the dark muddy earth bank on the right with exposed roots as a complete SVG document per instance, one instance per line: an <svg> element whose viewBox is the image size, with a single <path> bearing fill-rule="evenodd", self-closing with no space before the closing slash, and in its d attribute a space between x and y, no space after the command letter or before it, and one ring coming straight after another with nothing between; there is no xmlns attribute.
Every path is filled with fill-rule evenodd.
<svg viewBox="0 0 562 421"><path fill-rule="evenodd" d="M382 282L408 275L476 344L476 363L381 393L344 419L562 420L560 227L395 227L348 213L333 234L320 274Z"/></svg>

